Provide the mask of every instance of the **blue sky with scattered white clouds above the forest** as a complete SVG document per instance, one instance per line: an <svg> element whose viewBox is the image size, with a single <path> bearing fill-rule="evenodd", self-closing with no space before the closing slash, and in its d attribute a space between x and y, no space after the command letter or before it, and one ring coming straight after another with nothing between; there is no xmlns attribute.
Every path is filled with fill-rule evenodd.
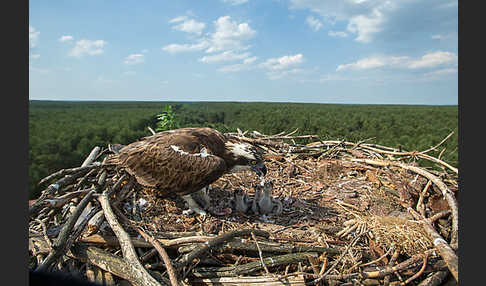
<svg viewBox="0 0 486 286"><path fill-rule="evenodd" d="M457 0L29 2L29 99L457 104Z"/></svg>

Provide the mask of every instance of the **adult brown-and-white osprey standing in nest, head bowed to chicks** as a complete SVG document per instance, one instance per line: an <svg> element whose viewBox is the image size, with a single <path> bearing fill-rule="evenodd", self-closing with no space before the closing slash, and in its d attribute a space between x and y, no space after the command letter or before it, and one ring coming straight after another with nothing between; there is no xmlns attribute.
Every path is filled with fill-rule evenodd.
<svg viewBox="0 0 486 286"><path fill-rule="evenodd" d="M127 146L111 145L110 150L115 154L105 164L125 168L139 184L161 195L182 196L189 208L201 215L206 214L209 197L203 199L204 206L191 194L204 194L209 184L227 172L253 170L261 179L267 173L262 153L255 146L211 128L159 132Z"/></svg>

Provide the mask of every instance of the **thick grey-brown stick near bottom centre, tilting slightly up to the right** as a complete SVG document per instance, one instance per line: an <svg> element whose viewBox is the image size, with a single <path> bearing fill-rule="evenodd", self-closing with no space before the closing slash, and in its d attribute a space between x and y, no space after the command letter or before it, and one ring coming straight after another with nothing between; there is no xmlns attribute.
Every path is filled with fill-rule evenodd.
<svg viewBox="0 0 486 286"><path fill-rule="evenodd" d="M292 264L297 262L307 261L311 257L318 257L315 252L302 252L302 253L291 253L284 255L277 255L272 257L266 257L263 262L267 267L275 267L279 265ZM192 277L199 278L210 278L210 277L225 277L225 276L238 276L254 273L256 271L262 270L263 265L260 260L249 262L246 264L240 264L236 267L197 267L194 268L192 273L189 275Z"/></svg>

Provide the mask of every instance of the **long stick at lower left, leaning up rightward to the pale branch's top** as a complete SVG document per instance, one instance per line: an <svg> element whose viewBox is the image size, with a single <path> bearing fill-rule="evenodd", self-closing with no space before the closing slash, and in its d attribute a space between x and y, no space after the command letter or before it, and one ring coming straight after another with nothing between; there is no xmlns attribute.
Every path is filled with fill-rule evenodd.
<svg viewBox="0 0 486 286"><path fill-rule="evenodd" d="M41 265L39 265L35 271L47 271L49 267L57 261L59 257L61 257L62 254L66 251L66 249L69 249L69 246L67 245L69 234L71 233L71 230L74 227L74 224L76 223L76 220L79 218L81 215L81 212L84 210L86 205L88 205L88 202L91 200L91 197L95 193L95 190L90 191L79 203L79 205L76 207L76 210L73 212L73 214L69 217L68 221L64 225L64 227L61 230L61 233L59 234L59 237L56 239L53 245L53 251L49 253L49 255L46 257L46 259L42 262Z"/></svg>

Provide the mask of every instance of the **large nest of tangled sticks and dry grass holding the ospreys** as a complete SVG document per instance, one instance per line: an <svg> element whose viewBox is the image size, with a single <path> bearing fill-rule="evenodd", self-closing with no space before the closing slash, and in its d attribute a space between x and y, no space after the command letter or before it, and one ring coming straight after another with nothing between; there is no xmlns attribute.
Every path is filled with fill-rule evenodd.
<svg viewBox="0 0 486 286"><path fill-rule="evenodd" d="M297 130L296 130L297 131ZM406 152L315 135L230 133L265 150L278 216L183 213L95 147L29 203L29 268L104 285L440 285L458 279L458 170ZM310 144L295 141L315 139ZM433 162L421 167L418 159ZM210 186L215 209L252 173ZM49 185L48 185L49 184Z"/></svg>

